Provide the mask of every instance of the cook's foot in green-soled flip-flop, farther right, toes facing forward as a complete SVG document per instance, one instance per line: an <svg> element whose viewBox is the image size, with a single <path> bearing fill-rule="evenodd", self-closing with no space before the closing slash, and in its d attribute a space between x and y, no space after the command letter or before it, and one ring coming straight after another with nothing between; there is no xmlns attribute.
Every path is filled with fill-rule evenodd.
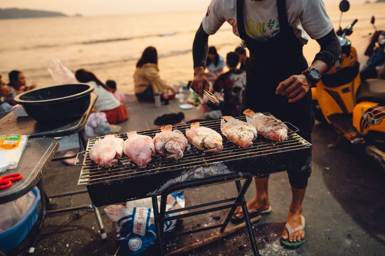
<svg viewBox="0 0 385 256"><path fill-rule="evenodd" d="M289 213L281 235L281 243L288 248L298 248L305 241L305 218L300 212Z"/></svg>

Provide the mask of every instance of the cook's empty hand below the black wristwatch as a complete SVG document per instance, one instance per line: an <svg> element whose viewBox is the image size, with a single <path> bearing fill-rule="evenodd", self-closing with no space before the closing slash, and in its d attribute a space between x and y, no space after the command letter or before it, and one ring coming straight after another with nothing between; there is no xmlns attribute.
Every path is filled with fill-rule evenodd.
<svg viewBox="0 0 385 256"><path fill-rule="evenodd" d="M301 100L309 92L311 85L305 75L294 75L281 82L275 93L288 96L292 103Z"/></svg>

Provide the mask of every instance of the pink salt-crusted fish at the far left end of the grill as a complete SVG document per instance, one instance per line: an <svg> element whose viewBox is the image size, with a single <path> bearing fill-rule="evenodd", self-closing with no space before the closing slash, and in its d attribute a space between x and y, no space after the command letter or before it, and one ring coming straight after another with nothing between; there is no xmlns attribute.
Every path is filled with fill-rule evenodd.
<svg viewBox="0 0 385 256"><path fill-rule="evenodd" d="M89 155L92 161L100 166L111 167L123 154L124 140L115 135L105 135L97 139L90 148Z"/></svg>

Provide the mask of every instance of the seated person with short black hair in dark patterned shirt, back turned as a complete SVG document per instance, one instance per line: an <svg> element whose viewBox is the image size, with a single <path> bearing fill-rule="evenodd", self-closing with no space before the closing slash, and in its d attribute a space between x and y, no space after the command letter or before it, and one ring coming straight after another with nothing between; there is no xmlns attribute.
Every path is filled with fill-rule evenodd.
<svg viewBox="0 0 385 256"><path fill-rule="evenodd" d="M229 71L218 76L213 88L213 93L223 92L224 102L221 102L219 108L225 116L239 116L241 110L243 92L246 88L246 71L237 69L239 62L239 54L229 52L226 56L226 65ZM211 109L216 109L214 105L208 101L207 105Z"/></svg>

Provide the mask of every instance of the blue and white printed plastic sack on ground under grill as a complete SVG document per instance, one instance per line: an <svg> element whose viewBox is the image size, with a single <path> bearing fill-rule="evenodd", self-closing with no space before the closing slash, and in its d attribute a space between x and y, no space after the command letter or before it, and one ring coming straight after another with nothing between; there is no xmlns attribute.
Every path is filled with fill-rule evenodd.
<svg viewBox="0 0 385 256"><path fill-rule="evenodd" d="M183 192L167 196L166 211L184 207ZM158 205L159 205L158 198ZM123 255L141 255L156 241L154 211L151 198L139 199L122 204L110 205L104 208L107 216L114 222L116 236ZM180 213L166 214L166 217ZM169 234L175 228L176 220L166 221L163 235Z"/></svg>

